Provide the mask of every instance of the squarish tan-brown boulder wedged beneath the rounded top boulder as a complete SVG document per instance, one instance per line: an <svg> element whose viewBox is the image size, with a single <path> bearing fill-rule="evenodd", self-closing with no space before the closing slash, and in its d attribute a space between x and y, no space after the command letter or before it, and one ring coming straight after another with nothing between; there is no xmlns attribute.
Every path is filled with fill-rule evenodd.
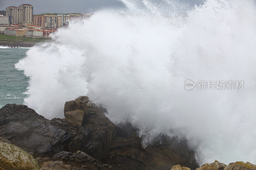
<svg viewBox="0 0 256 170"><path fill-rule="evenodd" d="M82 126L84 119L83 110L68 111L65 113L65 120L67 123Z"/></svg>

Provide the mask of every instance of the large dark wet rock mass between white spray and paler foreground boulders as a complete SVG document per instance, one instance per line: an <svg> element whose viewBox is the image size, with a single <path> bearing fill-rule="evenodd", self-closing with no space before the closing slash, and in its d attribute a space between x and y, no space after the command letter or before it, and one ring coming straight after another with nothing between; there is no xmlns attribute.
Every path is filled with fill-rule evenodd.
<svg viewBox="0 0 256 170"><path fill-rule="evenodd" d="M163 136L161 142L144 148L136 128L129 123L116 126L106 117L107 110L87 97L65 103L65 112L74 110L87 113L82 126L65 119L47 120L27 106L5 105L0 109L0 137L35 157L50 157L51 161L55 161L56 153L81 151L114 169L171 169L177 164L198 167L185 139Z"/></svg>

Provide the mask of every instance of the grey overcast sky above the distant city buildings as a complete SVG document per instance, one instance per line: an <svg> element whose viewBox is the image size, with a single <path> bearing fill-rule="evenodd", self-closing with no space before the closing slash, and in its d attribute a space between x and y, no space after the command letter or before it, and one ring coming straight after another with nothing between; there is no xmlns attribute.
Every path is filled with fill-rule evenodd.
<svg viewBox="0 0 256 170"><path fill-rule="evenodd" d="M31 4L34 14L41 13L93 13L104 7L124 8L118 0L0 0L0 11L8 6Z"/></svg>

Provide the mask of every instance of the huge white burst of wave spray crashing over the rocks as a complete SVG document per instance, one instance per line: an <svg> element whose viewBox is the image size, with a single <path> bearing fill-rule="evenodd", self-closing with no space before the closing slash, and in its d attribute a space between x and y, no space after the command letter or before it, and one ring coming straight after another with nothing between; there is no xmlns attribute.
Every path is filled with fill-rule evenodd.
<svg viewBox="0 0 256 170"><path fill-rule="evenodd" d="M139 128L145 146L159 134L186 137L200 163L256 163L254 1L123 0L71 22L52 43L16 64L30 78L25 104L63 117L65 101L88 95L115 123ZM243 90L191 90L185 80L244 80Z"/></svg>

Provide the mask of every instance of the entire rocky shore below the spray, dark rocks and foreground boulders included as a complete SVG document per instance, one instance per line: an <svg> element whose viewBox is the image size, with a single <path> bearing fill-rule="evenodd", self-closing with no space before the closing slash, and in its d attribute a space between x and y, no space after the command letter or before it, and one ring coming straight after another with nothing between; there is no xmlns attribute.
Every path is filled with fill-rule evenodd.
<svg viewBox="0 0 256 170"><path fill-rule="evenodd" d="M199 167L186 140L161 136L161 143L156 141L143 147L135 127L129 123L115 125L105 116L107 110L87 97L66 102L64 113L65 119L48 120L24 105L2 107L0 169L194 170ZM215 161L199 169L256 168L243 162L228 166Z"/></svg>

